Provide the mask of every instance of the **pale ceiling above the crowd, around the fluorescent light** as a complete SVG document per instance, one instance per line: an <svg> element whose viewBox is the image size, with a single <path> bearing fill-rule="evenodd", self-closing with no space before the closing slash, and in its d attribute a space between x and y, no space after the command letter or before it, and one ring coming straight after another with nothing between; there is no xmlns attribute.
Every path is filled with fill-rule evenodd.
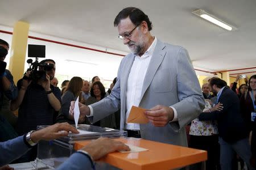
<svg viewBox="0 0 256 170"><path fill-rule="evenodd" d="M152 35L188 49L195 69L215 72L256 67L255 0L1 0L0 25L13 27L22 20L30 23L32 32L128 53L113 21L129 6L139 7L149 16ZM191 13L199 8L237 30L226 31ZM256 69L230 74L253 71Z"/></svg>

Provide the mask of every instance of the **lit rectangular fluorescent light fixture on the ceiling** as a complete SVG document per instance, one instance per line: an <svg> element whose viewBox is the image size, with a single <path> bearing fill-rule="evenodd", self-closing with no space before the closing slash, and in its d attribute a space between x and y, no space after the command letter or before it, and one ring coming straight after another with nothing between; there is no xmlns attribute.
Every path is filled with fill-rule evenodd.
<svg viewBox="0 0 256 170"><path fill-rule="evenodd" d="M204 19L208 20L209 22L216 24L228 31L232 31L232 30L234 31L237 29L236 27L233 27L232 25L225 23L221 19L218 19L216 16L209 14L208 12L206 12L204 10L199 9L199 10L193 11L192 13L197 16L200 16L201 18L204 18Z"/></svg>

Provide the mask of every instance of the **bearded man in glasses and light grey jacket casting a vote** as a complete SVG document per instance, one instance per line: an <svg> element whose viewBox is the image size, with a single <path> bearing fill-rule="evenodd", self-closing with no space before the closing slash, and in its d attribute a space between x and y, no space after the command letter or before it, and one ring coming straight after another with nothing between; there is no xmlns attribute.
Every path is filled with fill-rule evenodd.
<svg viewBox="0 0 256 170"><path fill-rule="evenodd" d="M135 7L119 12L114 26L132 53L122 59L111 94L89 106L80 104L80 114L93 123L121 107L120 129L128 137L187 146L184 126L204 108L187 50L151 36L148 16ZM148 124L127 123L133 105L148 109ZM72 102L69 114L73 107Z"/></svg>

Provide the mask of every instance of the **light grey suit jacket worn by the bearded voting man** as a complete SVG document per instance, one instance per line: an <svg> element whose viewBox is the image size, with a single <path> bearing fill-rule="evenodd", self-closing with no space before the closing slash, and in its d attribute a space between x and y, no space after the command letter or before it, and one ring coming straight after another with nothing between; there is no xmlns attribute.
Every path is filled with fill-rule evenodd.
<svg viewBox="0 0 256 170"><path fill-rule="evenodd" d="M89 118L91 122L96 122L121 107L120 129L125 127L127 79L133 61L132 53L122 59L117 83L111 95L91 105L94 115ZM164 127L155 127L151 123L141 124L142 138L187 146L184 126L203 111L203 94L187 50L159 40L144 78L139 107L150 109L158 104L174 107L178 121L170 122Z"/></svg>

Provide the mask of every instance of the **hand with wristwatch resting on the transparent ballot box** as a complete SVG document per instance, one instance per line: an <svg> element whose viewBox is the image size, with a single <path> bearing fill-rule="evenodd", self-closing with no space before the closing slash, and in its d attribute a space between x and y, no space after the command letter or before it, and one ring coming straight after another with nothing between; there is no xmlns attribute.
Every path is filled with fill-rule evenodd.
<svg viewBox="0 0 256 170"><path fill-rule="evenodd" d="M39 142L40 140L51 141L53 139L67 136L69 131L72 133L79 133L75 127L66 122L35 131L31 134L31 139L33 142Z"/></svg>

